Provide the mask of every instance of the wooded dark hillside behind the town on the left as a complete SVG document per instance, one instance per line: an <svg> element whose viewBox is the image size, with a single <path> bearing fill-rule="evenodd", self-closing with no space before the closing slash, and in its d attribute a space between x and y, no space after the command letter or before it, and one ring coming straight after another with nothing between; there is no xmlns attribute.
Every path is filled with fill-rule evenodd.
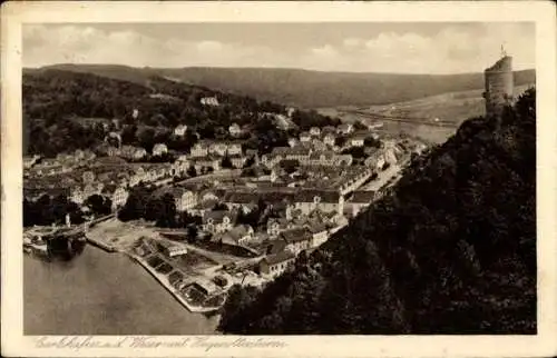
<svg viewBox="0 0 557 358"><path fill-rule="evenodd" d="M201 103L202 98L213 96L217 97L218 106ZM57 69L23 73L23 146L30 155L51 157L62 151L91 149L113 131L121 136L123 145L139 146L147 151L157 142L187 151L198 139L227 139L232 123L255 129L244 139L258 148L267 137L281 143L287 138L287 132L277 128L272 118L285 113L283 105L157 76L115 79ZM292 120L297 128L290 129L291 135L315 125L338 125L338 120L315 111L296 111ZM184 137L173 135L178 125L188 126Z"/></svg>

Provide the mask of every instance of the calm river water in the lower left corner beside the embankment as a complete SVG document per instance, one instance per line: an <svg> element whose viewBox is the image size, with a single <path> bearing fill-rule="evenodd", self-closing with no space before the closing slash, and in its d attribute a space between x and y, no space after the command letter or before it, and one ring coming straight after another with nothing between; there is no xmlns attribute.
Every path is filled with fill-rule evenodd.
<svg viewBox="0 0 557 358"><path fill-rule="evenodd" d="M23 256L26 335L207 335L217 317L187 311L143 267L96 247L71 261Z"/></svg>

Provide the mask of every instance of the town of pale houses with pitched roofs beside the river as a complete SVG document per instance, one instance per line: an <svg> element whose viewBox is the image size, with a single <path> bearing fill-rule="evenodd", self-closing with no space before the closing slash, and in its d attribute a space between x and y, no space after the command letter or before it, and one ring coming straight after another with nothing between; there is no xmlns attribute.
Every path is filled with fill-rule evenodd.
<svg viewBox="0 0 557 358"><path fill-rule="evenodd" d="M276 119L289 125L294 111ZM53 206L65 215L50 227L28 226L26 250L47 252L49 240L75 228L130 256L190 311L213 311L234 284L261 287L325 242L427 148L378 127L312 127L266 153L245 148L250 128L237 123L228 139L198 140L187 152L160 142L148 153L121 145L114 130L95 150L26 157L25 211ZM187 131L178 125L173 137Z"/></svg>

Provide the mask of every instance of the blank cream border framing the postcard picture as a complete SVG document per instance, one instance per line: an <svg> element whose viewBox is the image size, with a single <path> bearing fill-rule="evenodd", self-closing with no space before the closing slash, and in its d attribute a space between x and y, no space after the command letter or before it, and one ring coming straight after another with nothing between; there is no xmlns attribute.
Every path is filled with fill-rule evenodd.
<svg viewBox="0 0 557 358"><path fill-rule="evenodd" d="M543 1L482 2L8 2L2 4L2 356L554 356L557 347L556 8ZM21 23L47 22L358 22L534 21L538 100L538 335L537 336L285 336L282 349L157 348L38 349L22 336ZM469 46L473 46L470 43ZM53 49L56 50L56 49ZM177 340L175 336L156 339ZM235 337L213 337L233 341ZM111 336L95 339L109 341Z"/></svg>

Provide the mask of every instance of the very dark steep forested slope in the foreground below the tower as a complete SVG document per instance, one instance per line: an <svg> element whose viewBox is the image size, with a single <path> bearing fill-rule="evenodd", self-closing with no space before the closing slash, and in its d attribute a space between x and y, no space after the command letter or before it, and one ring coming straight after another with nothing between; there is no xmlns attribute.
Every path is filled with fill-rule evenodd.
<svg viewBox="0 0 557 358"><path fill-rule="evenodd" d="M473 118L265 289L227 334L536 334L536 91Z"/></svg>

